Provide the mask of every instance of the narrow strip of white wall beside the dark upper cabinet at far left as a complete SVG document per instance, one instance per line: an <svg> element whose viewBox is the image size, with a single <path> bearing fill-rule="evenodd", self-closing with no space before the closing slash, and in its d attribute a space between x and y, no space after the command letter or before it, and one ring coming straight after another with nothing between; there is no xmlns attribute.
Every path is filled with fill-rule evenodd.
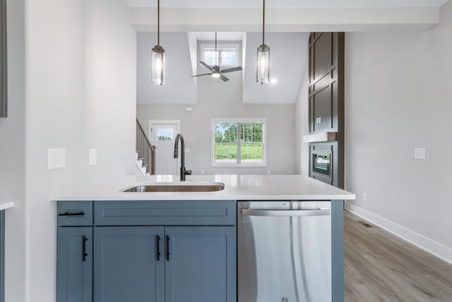
<svg viewBox="0 0 452 302"><path fill-rule="evenodd" d="M8 118L0 119L0 202L6 211L6 301L25 301L24 1L8 0Z"/></svg>

